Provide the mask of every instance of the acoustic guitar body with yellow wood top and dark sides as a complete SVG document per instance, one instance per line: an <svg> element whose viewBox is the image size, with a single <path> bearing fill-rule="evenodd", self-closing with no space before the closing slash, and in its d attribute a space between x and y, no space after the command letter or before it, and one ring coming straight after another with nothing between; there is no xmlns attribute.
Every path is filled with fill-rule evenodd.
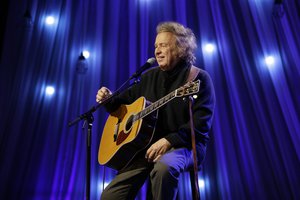
<svg viewBox="0 0 300 200"><path fill-rule="evenodd" d="M146 107L146 99L138 98L130 105L121 105L108 117L100 141L98 161L101 165L121 170L134 156L145 149L153 138L157 111L134 120Z"/></svg>

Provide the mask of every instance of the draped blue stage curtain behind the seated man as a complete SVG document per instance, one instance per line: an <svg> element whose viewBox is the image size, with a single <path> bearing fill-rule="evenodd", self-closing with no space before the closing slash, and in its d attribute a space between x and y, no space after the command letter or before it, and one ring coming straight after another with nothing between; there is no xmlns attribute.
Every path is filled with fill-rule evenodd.
<svg viewBox="0 0 300 200"><path fill-rule="evenodd" d="M95 105L100 86L116 90L153 57L161 21L194 30L196 65L215 85L201 197L300 198L299 1L2 4L1 199L84 199L86 131L82 122L73 127L68 122ZM55 18L51 26L47 15ZM208 42L215 45L210 54L203 49ZM90 52L85 61L79 60L83 50ZM272 66L264 60L269 55ZM83 65L87 72L79 73ZM55 88L52 96L45 95L49 85ZM98 109L94 118L91 198L99 199L115 172L97 161L107 113ZM145 193L146 185L137 199ZM179 198L191 198L187 174L180 178Z"/></svg>

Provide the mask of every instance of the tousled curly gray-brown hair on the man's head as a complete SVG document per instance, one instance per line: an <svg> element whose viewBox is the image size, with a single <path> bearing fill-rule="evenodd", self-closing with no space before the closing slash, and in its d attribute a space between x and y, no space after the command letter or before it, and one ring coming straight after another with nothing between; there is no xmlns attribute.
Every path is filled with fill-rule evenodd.
<svg viewBox="0 0 300 200"><path fill-rule="evenodd" d="M162 22L157 25L156 33L162 32L171 32L175 35L180 57L188 64L193 65L196 61L195 51L197 49L193 31L177 22Z"/></svg>

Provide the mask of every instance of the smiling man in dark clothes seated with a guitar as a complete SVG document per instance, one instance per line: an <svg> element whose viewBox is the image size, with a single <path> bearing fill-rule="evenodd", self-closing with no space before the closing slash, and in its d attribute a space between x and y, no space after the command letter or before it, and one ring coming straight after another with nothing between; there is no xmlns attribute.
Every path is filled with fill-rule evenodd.
<svg viewBox="0 0 300 200"><path fill-rule="evenodd" d="M161 23L156 30L155 57L159 66L148 70L139 84L114 98L106 106L108 112L121 104L131 104L141 96L155 102L187 82L191 69L195 68L197 45L193 32L175 22ZM200 70L196 75L201 86L198 98L194 100L193 118L200 165L209 139L215 94L207 72ZM96 101L101 102L109 95L111 91L102 87ZM188 101L173 99L159 108L158 113L152 143L118 173L103 191L102 199L134 199L147 177L150 177L153 199L176 198L180 173L193 166Z"/></svg>

